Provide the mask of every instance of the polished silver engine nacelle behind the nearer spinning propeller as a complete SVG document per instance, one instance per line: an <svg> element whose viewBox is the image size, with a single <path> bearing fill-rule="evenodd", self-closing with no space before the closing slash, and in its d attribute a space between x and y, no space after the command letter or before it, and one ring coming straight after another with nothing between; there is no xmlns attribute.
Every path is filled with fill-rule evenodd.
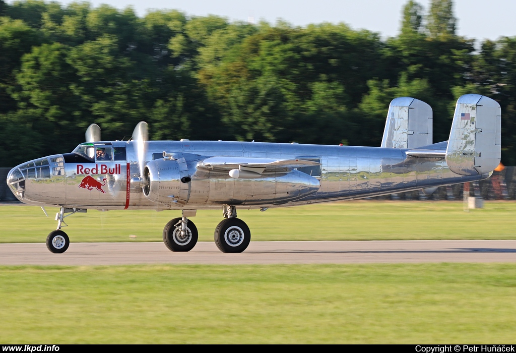
<svg viewBox="0 0 516 353"><path fill-rule="evenodd" d="M289 172L235 179L228 172L202 171L184 158L156 159L144 169L143 194L157 203L188 205L271 205L302 199L319 190L314 177Z"/></svg>

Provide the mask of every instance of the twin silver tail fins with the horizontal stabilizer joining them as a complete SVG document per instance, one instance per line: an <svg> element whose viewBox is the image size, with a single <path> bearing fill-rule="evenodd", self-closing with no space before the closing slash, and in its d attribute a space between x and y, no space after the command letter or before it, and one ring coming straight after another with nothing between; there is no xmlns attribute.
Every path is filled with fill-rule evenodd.
<svg viewBox="0 0 516 353"><path fill-rule="evenodd" d="M383 148L408 149L416 158L446 158L451 171L482 175L501 159L500 105L480 94L465 94L457 101L446 151L432 145L432 108L425 102L400 97L389 105Z"/></svg>

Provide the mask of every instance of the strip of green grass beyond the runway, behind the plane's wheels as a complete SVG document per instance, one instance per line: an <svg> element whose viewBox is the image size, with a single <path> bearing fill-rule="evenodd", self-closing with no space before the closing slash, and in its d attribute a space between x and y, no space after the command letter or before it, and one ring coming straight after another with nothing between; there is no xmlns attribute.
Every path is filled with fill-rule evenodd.
<svg viewBox="0 0 516 353"><path fill-rule="evenodd" d="M0 243L44 242L54 230L57 208L0 206ZM463 211L462 202L350 201L267 212L238 210L252 240L516 239L516 202L486 201L485 208ZM72 242L162 241L165 224L179 211L88 211L65 219ZM221 210L190 218L200 241L213 241Z"/></svg>

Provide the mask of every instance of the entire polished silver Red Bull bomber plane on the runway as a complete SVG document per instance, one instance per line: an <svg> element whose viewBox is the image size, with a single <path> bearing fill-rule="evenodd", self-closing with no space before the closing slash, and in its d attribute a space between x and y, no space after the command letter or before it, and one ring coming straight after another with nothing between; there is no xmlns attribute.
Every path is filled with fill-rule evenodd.
<svg viewBox="0 0 516 353"><path fill-rule="evenodd" d="M381 147L232 141L148 141L140 122L128 141L102 141L91 124L86 143L13 168L7 183L31 205L58 206L57 230L46 238L54 253L68 249L63 221L88 209L181 210L167 223L165 245L189 251L198 231L188 217L222 208L215 229L223 252L242 252L251 232L236 208L294 206L360 199L489 178L500 162L501 109L494 100L459 98L448 141L432 144L432 109L417 99L394 99Z"/></svg>

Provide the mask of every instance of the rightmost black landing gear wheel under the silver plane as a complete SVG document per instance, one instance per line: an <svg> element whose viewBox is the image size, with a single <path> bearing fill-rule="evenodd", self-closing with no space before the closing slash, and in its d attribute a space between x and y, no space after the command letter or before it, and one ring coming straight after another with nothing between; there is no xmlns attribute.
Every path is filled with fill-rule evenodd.
<svg viewBox="0 0 516 353"><path fill-rule="evenodd" d="M242 252L251 241L251 231L238 218L223 219L215 228L215 244L222 252Z"/></svg>

